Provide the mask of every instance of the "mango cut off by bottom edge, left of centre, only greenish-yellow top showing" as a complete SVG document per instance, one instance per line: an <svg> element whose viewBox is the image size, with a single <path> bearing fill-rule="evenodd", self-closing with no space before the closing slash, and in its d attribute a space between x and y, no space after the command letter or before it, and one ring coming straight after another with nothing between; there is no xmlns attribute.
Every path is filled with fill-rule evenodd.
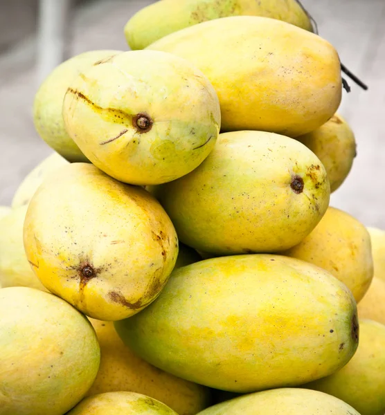
<svg viewBox="0 0 385 415"><path fill-rule="evenodd" d="M89 396L66 415L178 415L168 406L134 392Z"/></svg>

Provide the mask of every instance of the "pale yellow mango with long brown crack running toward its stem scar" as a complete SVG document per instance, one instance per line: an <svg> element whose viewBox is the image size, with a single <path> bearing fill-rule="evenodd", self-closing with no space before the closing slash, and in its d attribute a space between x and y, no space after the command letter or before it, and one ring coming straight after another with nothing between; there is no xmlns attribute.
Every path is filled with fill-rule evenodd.
<svg viewBox="0 0 385 415"><path fill-rule="evenodd" d="M91 162L133 185L166 183L210 154L220 104L195 66L170 53L120 53L82 71L63 104L66 130Z"/></svg>

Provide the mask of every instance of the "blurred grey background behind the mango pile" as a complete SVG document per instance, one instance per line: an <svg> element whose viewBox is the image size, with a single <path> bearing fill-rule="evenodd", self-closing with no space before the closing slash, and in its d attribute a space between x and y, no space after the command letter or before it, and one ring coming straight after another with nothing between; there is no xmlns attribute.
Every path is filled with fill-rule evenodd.
<svg viewBox="0 0 385 415"><path fill-rule="evenodd" d="M181 0L182 1L182 0ZM0 205L52 150L33 127L39 83L55 62L93 49L127 50L123 26L150 0L0 0ZM385 229L385 1L302 0L319 33L369 86L343 93L339 113L357 158L331 205Z"/></svg>

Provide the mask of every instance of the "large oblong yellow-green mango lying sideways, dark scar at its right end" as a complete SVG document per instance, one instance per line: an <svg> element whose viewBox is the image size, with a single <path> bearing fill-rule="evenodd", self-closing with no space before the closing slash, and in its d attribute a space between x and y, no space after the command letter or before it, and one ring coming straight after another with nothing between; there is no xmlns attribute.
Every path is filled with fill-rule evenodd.
<svg viewBox="0 0 385 415"><path fill-rule="evenodd" d="M279 255L178 268L153 304L115 328L152 365L242 393L328 376L352 358L358 342L356 304L346 286Z"/></svg>

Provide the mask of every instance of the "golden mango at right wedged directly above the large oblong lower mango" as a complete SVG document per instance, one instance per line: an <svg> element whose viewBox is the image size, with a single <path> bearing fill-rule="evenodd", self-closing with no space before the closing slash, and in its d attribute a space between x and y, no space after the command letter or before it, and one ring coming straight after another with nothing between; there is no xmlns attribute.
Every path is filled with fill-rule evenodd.
<svg viewBox="0 0 385 415"><path fill-rule="evenodd" d="M294 248L282 252L328 270L352 291L358 303L373 279L370 235L350 214L329 207L316 228Z"/></svg>

